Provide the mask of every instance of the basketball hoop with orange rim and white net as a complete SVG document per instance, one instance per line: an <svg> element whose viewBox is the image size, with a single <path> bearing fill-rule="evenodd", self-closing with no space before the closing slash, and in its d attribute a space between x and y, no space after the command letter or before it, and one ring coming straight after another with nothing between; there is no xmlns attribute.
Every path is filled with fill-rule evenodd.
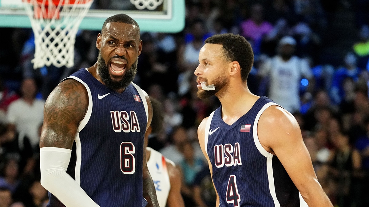
<svg viewBox="0 0 369 207"><path fill-rule="evenodd" d="M33 68L72 67L78 27L93 0L22 1L35 34Z"/></svg>

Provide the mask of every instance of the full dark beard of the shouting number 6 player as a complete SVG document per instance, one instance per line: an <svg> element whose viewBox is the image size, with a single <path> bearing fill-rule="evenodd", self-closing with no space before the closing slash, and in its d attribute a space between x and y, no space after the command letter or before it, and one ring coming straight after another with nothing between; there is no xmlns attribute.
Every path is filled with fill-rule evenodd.
<svg viewBox="0 0 369 207"><path fill-rule="evenodd" d="M124 57L120 57L120 58L125 59ZM136 61L132 64L132 66L129 69L125 69L127 70L127 72L125 73L124 77L120 81L113 81L113 79L111 79L110 74L109 74L109 67L105 63L105 60L103 59L103 57L101 57L101 53L99 51L99 56L97 56L97 71L99 72L101 80L106 85L106 87L112 90L124 89L132 83L132 81L134 80L136 76L137 62L138 62L138 58L136 59Z"/></svg>

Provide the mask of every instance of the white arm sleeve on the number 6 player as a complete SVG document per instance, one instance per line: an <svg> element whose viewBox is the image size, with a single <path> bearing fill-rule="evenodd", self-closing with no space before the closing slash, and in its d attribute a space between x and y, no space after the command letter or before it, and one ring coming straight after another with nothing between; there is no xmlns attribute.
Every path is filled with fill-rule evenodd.
<svg viewBox="0 0 369 207"><path fill-rule="evenodd" d="M41 185L65 206L97 205L66 173L72 150L59 147L40 148Z"/></svg>

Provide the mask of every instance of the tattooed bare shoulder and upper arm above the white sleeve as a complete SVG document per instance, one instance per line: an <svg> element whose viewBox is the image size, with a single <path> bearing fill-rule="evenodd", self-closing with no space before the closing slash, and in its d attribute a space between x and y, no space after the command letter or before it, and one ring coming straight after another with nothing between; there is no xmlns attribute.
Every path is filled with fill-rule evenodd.
<svg viewBox="0 0 369 207"><path fill-rule="evenodd" d="M88 94L82 83L74 79L60 83L45 102L40 147L71 148L87 107Z"/></svg>

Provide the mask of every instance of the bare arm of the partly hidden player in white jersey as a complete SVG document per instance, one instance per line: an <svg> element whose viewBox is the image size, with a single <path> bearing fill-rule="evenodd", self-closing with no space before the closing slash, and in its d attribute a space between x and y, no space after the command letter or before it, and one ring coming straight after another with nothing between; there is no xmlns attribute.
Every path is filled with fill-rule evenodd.
<svg viewBox="0 0 369 207"><path fill-rule="evenodd" d="M168 207L184 207L183 198L181 195L181 175L179 169L176 168L171 162L166 161L168 168L170 191L166 204Z"/></svg>

